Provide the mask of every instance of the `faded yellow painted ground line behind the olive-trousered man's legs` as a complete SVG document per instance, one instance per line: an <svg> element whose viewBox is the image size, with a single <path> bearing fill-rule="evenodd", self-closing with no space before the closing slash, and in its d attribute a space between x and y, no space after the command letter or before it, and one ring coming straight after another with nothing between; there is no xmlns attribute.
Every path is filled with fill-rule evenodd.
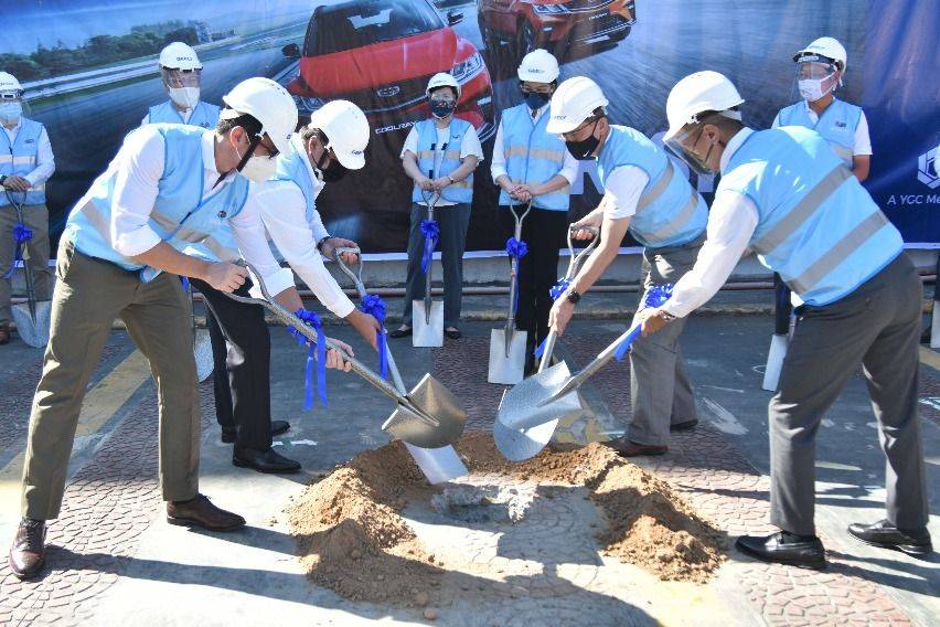
<svg viewBox="0 0 940 627"><path fill-rule="evenodd" d="M73 455L81 450L78 438L97 433L149 376L147 360L140 351L135 350L85 394L82 414L78 416L78 428L75 432L77 442L72 449ZM0 508L4 511L19 510L24 457L25 445L23 450L0 469Z"/></svg>

